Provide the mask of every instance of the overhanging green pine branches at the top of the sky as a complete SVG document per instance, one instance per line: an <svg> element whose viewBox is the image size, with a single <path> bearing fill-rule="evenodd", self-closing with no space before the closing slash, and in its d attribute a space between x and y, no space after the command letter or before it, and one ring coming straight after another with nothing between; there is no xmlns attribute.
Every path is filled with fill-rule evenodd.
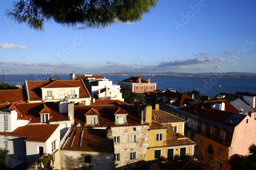
<svg viewBox="0 0 256 170"><path fill-rule="evenodd" d="M116 20L135 22L150 12L157 0L20 0L6 15L18 23L26 23L31 29L44 31L44 23L50 20L75 27L108 27Z"/></svg>

